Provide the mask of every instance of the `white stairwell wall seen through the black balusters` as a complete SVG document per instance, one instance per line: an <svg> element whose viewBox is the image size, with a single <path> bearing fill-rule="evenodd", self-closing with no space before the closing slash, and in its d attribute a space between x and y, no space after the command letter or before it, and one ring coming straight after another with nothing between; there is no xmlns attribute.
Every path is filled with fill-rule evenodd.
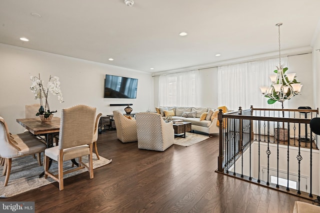
<svg viewBox="0 0 320 213"><path fill-rule="evenodd" d="M258 159L258 142L254 141L251 144L251 177L258 179L258 172L260 171L260 180L263 180L263 168L267 168L267 155L265 151L267 150L267 143L260 143L260 159ZM269 144L269 150L271 152L269 156L269 169L277 170L277 145L274 143ZM289 174L292 176L298 176L298 161L296 156L298 155L298 148L290 146L289 149ZM301 148L300 155L302 160L300 162L300 176L306 179L307 192L310 192L310 149ZM249 162L250 162L249 149L247 149L243 154L243 175L249 176ZM241 161L239 158L235 163L235 172L241 174ZM258 162L260 161L260 167L258 167ZM319 190L319 174L318 174L318 161L319 161L319 151L312 150L312 194L318 195ZM279 145L279 172L287 173L287 146ZM232 166L229 171L233 173L234 167ZM279 173L279 177L286 179L286 175ZM265 175L265 174L264 174ZM265 176L267 177L267 176ZM291 178L290 180L294 180ZM270 179L269 179L270 181ZM297 181L297 179L295 179ZM301 182L302 183L302 182ZM303 186L304 187L304 186Z"/></svg>

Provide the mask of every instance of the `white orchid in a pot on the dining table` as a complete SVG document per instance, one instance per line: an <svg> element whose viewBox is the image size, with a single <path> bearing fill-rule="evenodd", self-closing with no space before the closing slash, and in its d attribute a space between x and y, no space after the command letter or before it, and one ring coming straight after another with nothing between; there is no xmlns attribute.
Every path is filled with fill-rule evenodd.
<svg viewBox="0 0 320 213"><path fill-rule="evenodd" d="M40 100L40 105L41 105L39 112L36 113L36 116L44 114L44 117L49 117L50 114L56 111L50 111L49 104L47 102L48 92L50 91L51 94L57 95L60 103L63 102L63 97L60 90L59 78L56 76L54 77L50 76L49 81L47 83L47 87L43 87L42 80L40 79L40 74L39 74L39 77L30 76L30 80L32 81L30 90L34 94L34 99ZM45 98L44 108L42 105L42 98Z"/></svg>

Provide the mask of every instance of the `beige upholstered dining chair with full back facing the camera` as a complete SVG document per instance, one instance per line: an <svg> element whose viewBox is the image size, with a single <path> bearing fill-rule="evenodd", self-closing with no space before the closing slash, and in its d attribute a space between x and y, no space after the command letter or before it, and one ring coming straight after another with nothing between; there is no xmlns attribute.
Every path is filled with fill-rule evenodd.
<svg viewBox="0 0 320 213"><path fill-rule="evenodd" d="M86 168L90 179L93 178L92 143L96 120L96 108L76 105L62 109L59 144L44 151L44 178L48 176L59 183L63 190L63 174ZM82 162L82 156L88 156L88 166ZM78 158L79 167L63 171L63 161ZM58 174L49 172L49 159L57 161Z"/></svg>

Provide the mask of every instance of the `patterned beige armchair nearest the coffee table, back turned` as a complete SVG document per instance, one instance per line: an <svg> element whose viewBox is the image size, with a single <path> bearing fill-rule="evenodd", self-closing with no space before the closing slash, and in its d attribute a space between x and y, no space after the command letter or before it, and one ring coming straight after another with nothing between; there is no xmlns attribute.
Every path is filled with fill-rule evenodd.
<svg viewBox="0 0 320 213"><path fill-rule="evenodd" d="M160 114L140 112L135 120L139 149L164 151L174 143L172 122L165 123Z"/></svg>

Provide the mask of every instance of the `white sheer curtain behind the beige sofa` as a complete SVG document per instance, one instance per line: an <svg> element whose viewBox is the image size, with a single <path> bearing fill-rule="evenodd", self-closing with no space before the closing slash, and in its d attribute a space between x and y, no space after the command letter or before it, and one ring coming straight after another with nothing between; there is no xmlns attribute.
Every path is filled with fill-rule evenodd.
<svg viewBox="0 0 320 213"><path fill-rule="evenodd" d="M197 106L199 71L159 76L159 106Z"/></svg>

